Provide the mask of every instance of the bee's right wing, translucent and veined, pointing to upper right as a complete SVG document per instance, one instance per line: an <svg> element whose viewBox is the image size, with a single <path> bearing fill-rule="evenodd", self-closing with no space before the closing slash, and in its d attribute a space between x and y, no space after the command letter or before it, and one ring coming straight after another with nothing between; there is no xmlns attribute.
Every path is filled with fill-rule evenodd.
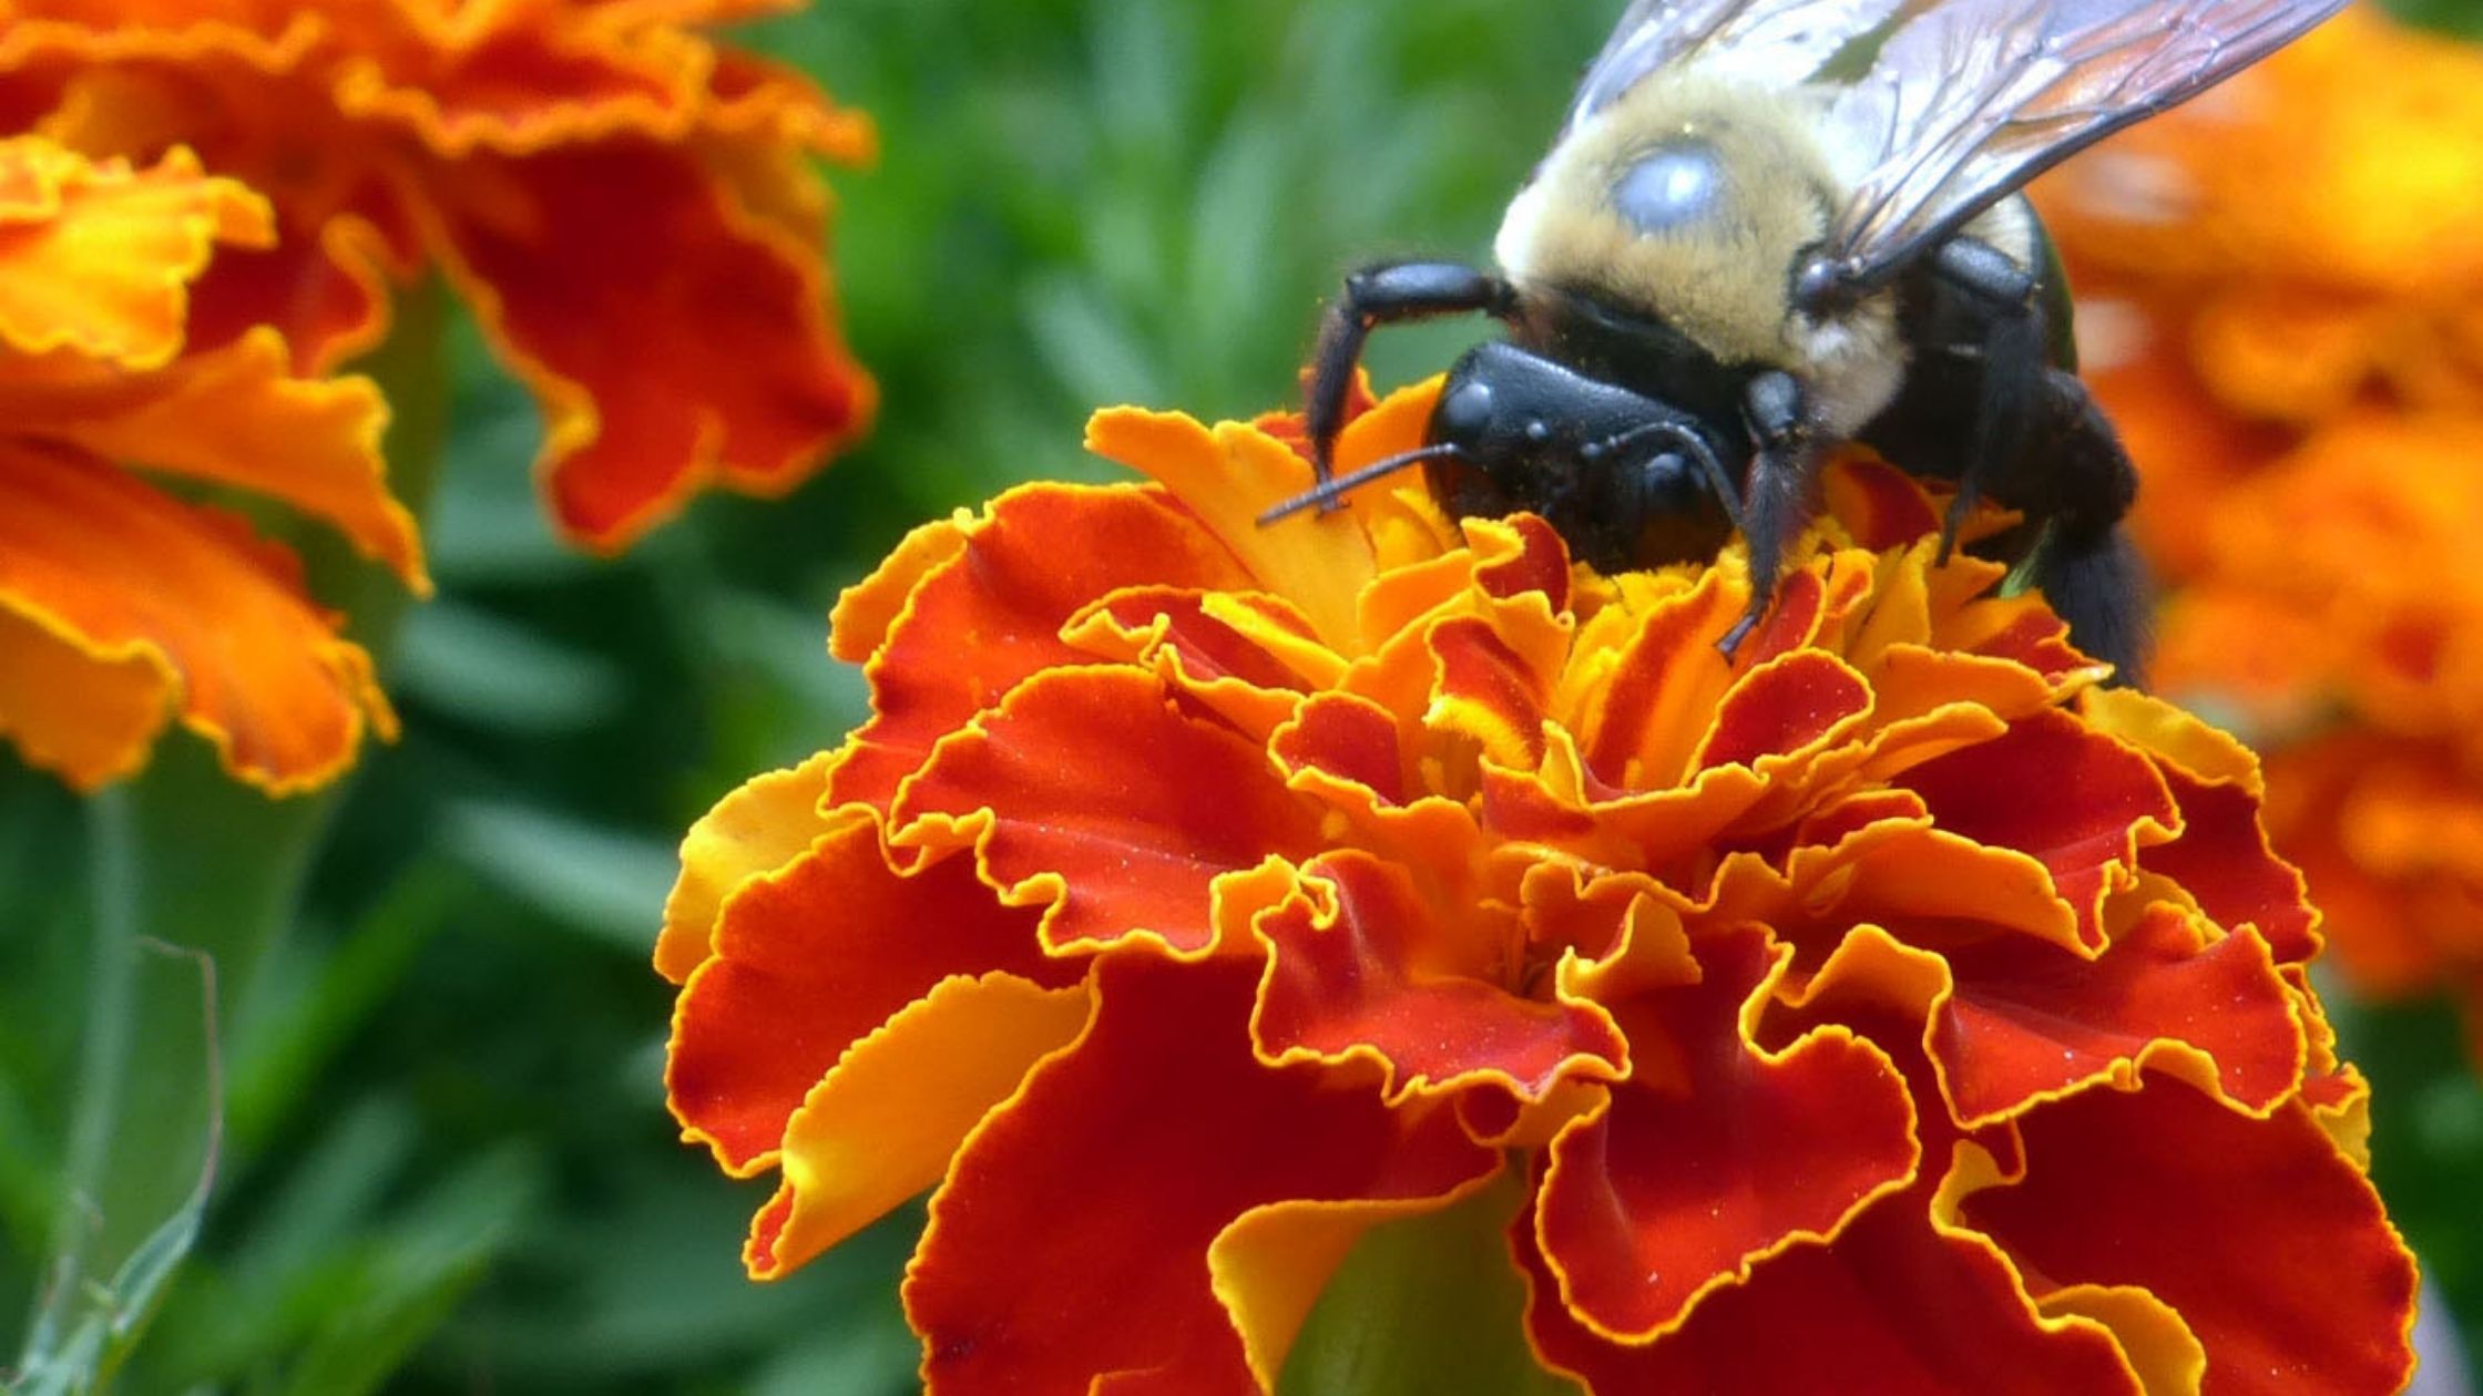
<svg viewBox="0 0 2483 1396"><path fill-rule="evenodd" d="M1830 229L1875 286L2046 166L2232 77L2344 0L1909 0L1830 107L1860 169Z"/></svg>

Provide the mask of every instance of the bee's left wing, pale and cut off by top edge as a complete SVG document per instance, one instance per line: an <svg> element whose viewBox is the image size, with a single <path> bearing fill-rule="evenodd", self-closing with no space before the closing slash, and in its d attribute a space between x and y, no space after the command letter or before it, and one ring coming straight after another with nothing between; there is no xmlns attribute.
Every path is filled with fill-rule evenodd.
<svg viewBox="0 0 2483 1396"><path fill-rule="evenodd" d="M1604 52L1587 65L1564 129L1577 129L1656 70L1696 67L1763 89L1800 87L1902 7L1904 0L1634 0Z"/></svg>

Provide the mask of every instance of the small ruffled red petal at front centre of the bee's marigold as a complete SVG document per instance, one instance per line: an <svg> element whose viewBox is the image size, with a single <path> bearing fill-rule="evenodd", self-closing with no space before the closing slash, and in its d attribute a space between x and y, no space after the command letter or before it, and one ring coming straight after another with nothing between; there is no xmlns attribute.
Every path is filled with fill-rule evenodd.
<svg viewBox="0 0 2483 1396"><path fill-rule="evenodd" d="M1259 922L1271 954L1251 1038L1274 1063L1378 1058L1390 1100L1485 1078L1539 1100L1557 1081L1629 1068L1604 1008L1502 989L1525 954L1515 914L1438 907L1358 850L1304 872L1336 884L1336 922L1304 902Z"/></svg>

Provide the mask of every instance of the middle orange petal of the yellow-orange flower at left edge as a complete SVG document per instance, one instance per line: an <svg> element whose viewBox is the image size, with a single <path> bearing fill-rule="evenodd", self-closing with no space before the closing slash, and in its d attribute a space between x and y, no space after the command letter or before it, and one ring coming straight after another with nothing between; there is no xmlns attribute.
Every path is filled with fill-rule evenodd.
<svg viewBox="0 0 2483 1396"><path fill-rule="evenodd" d="M293 378L268 328L137 375L12 368L0 402L17 432L283 499L430 591L415 517L387 492L387 402L367 378Z"/></svg>

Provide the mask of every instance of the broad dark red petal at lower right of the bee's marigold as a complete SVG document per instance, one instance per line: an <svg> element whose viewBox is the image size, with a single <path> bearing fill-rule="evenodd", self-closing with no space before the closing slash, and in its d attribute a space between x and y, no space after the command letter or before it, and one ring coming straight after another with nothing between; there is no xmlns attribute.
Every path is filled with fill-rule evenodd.
<svg viewBox="0 0 2483 1396"><path fill-rule="evenodd" d="M2135 1284L2207 1346L2207 1391L2399 1391L2413 1257L2371 1180L2287 1105L2267 1120L2160 1076L2029 1113L2021 1182L1964 1220L2053 1284Z"/></svg>

